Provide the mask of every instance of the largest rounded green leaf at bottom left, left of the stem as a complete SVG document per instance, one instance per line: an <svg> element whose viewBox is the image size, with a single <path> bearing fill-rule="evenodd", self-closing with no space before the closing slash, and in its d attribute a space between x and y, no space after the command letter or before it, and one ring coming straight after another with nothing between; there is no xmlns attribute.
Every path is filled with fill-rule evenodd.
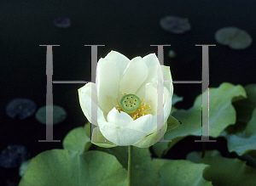
<svg viewBox="0 0 256 186"><path fill-rule="evenodd" d="M52 149L37 155L20 180L20 186L127 185L127 171L104 152L83 155L66 149Z"/></svg>

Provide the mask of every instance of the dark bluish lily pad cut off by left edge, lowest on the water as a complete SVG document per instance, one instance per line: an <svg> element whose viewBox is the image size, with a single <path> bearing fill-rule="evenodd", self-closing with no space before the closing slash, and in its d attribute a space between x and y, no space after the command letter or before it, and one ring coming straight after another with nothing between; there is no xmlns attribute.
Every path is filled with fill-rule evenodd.
<svg viewBox="0 0 256 186"><path fill-rule="evenodd" d="M30 154L23 145L8 145L0 154L0 166L5 168L15 168L21 165L23 161L28 160Z"/></svg>

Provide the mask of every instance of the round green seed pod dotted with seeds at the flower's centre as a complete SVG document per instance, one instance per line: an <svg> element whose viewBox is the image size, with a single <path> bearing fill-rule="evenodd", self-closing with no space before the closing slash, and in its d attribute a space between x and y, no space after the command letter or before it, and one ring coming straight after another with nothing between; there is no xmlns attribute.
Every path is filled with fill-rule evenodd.
<svg viewBox="0 0 256 186"><path fill-rule="evenodd" d="M134 113L141 105L141 99L134 94L127 94L120 100L121 108L127 113Z"/></svg>

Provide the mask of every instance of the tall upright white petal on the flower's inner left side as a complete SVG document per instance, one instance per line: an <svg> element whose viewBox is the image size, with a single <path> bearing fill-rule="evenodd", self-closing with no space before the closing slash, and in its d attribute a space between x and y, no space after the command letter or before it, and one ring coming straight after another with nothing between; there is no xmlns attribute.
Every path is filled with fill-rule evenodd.
<svg viewBox="0 0 256 186"><path fill-rule="evenodd" d="M98 101L102 110L108 113L117 104L119 69L111 61L100 59L96 73Z"/></svg>

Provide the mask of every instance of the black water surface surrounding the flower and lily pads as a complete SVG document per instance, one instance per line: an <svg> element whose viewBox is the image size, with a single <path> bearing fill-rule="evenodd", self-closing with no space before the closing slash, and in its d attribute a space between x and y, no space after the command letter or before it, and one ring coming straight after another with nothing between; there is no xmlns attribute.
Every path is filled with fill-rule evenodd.
<svg viewBox="0 0 256 186"><path fill-rule="evenodd" d="M38 143L45 139L45 126L35 116L20 121L5 113L9 101L19 97L34 100L38 108L45 105L45 47L39 45L61 45L54 47L54 81L90 81L90 47L84 47L89 44L105 45L98 48L98 59L111 50L129 59L143 57L157 52L150 45L171 44L164 48L164 62L171 66L172 79L201 81L201 47L195 44L216 44L209 48L210 87L222 82L245 86L256 79L255 42L250 48L233 50L215 42L214 33L236 26L255 38L255 9L253 0L0 1L0 150L8 144L22 144L33 157L46 149L62 148L62 143ZM159 21L166 15L189 18L192 30L184 35L164 31ZM55 27L53 20L59 16L70 18L71 27ZM176 51L176 59L168 58L170 49ZM62 142L67 132L87 122L78 99L77 90L82 86L53 85L54 104L61 105L68 115L54 126L54 139ZM174 93L183 96L177 108L188 109L201 93L201 85L175 84ZM178 143L166 158L181 159L191 150L200 150L201 143L194 140L189 137ZM217 147L227 152L224 139L207 143L207 149ZM0 167L0 171L4 184L7 179L19 181L18 168Z"/></svg>

